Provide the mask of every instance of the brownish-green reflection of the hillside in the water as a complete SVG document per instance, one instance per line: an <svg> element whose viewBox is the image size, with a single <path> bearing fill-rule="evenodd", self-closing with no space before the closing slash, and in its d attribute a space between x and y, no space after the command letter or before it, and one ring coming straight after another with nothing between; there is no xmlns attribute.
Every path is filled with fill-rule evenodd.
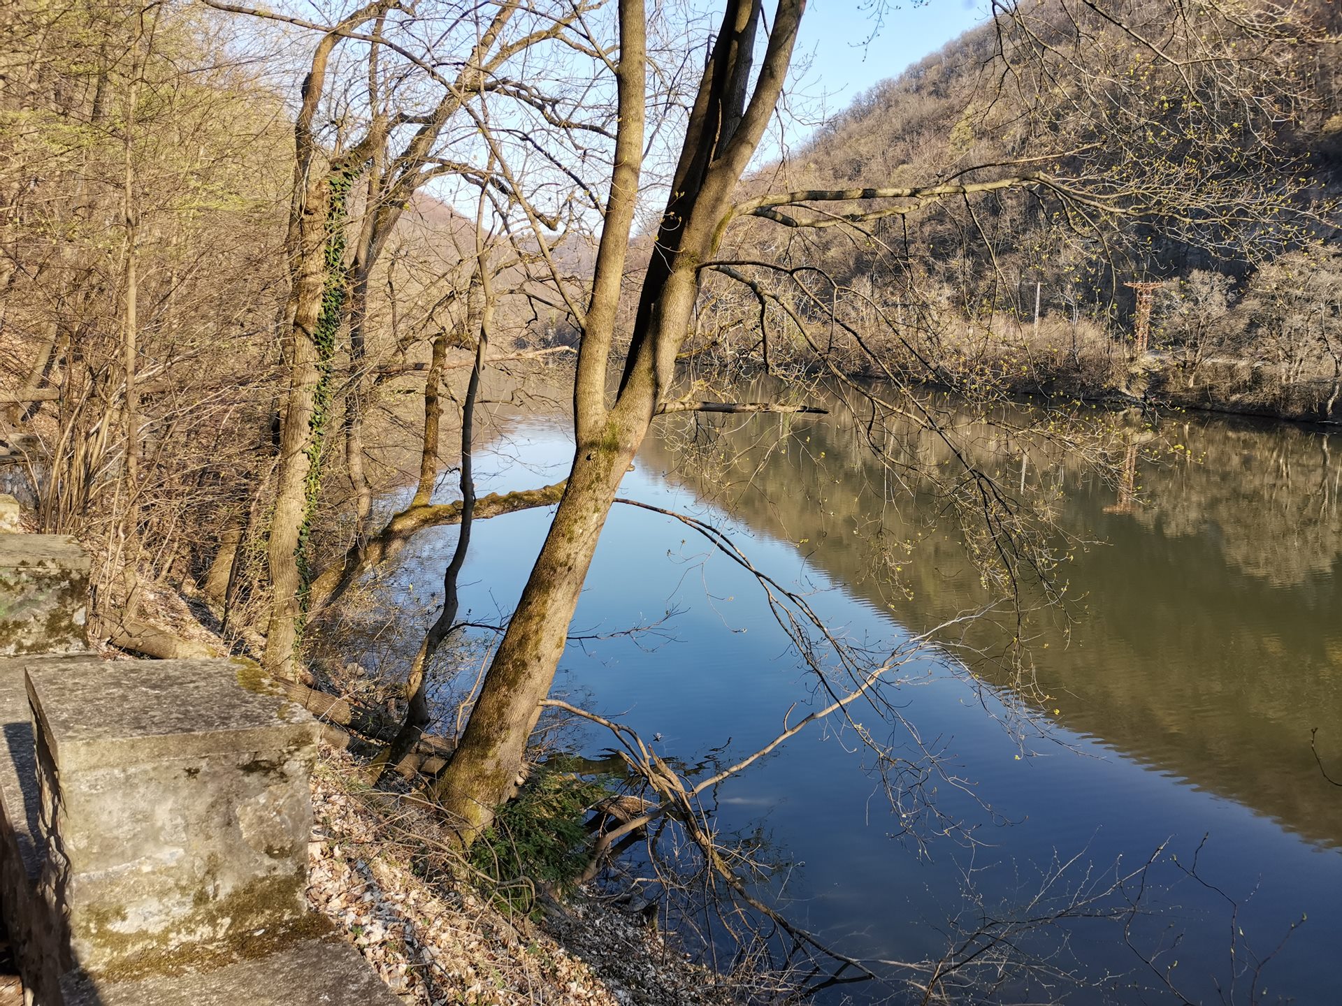
<svg viewBox="0 0 1342 1006"><path fill-rule="evenodd" d="M990 601L941 500L890 490L849 428L713 425L643 461L756 533L808 539L809 563L915 632ZM1062 527L1096 542L1059 571L1070 638L1057 613L1031 622L1037 685L1070 730L1342 845L1342 798L1308 744L1318 727L1342 761L1342 437L1186 417L1159 432L1134 487L1066 457L1027 464L1027 499L1060 490ZM1002 618L970 641L998 651L1013 633Z"/></svg>

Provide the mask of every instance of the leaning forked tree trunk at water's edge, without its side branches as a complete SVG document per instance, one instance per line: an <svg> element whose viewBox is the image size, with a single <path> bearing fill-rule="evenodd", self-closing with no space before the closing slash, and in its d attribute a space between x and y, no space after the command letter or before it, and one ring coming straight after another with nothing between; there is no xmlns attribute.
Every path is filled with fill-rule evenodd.
<svg viewBox="0 0 1342 1006"><path fill-rule="evenodd" d="M435 783L435 795L464 845L490 825L495 807L513 794L601 528L674 376L698 296L699 267L717 251L735 185L773 115L804 8L805 0L778 0L764 64L750 93L761 0L727 0L644 275L624 374L615 404L608 406L605 372L646 119L644 0L620 0L620 126L578 350L573 467L462 742Z"/></svg>

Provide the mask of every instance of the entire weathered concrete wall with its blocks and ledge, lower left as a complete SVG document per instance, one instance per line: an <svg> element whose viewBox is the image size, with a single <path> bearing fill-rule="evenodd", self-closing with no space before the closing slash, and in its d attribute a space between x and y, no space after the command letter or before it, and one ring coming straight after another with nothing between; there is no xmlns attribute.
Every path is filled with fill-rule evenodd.
<svg viewBox="0 0 1342 1006"><path fill-rule="evenodd" d="M4 534L0 913L36 1006L392 1006L309 911L317 723L246 660L101 660L89 557Z"/></svg>

